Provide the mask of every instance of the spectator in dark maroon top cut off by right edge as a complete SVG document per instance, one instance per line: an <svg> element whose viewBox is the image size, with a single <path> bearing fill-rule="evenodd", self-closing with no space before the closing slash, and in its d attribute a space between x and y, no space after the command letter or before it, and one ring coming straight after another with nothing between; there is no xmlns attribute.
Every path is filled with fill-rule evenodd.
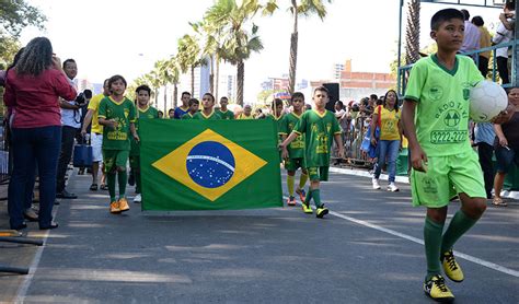
<svg viewBox="0 0 519 304"><path fill-rule="evenodd" d="M507 203L501 198L503 184L506 174L512 164L519 168L519 87L514 87L508 93L508 101L514 105L514 115L510 120L503 125L494 125L496 139L497 174L494 179L494 206L506 207Z"/></svg>

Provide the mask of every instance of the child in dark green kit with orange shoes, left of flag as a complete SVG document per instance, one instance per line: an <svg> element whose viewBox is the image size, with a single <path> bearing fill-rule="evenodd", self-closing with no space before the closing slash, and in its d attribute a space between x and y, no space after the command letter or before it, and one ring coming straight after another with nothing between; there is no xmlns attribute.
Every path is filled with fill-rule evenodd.
<svg viewBox="0 0 519 304"><path fill-rule="evenodd" d="M126 80L114 75L108 80L111 95L103 98L99 108L99 124L103 125L103 160L108 180L109 212L120 213L129 210L126 200L126 163L128 162L132 135L138 142L135 130L135 105L125 97ZM115 199L115 177L118 175L119 199Z"/></svg>

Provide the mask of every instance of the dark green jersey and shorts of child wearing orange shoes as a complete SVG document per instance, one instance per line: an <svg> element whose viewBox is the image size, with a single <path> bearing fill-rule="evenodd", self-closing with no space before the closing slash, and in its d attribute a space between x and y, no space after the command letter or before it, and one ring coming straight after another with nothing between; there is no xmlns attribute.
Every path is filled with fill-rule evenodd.
<svg viewBox="0 0 519 304"><path fill-rule="evenodd" d="M117 121L115 129L103 128L103 160L106 172L113 172L116 166L126 167L130 151L129 125L136 119L134 103L126 97L117 103L107 96L100 103L99 118Z"/></svg>

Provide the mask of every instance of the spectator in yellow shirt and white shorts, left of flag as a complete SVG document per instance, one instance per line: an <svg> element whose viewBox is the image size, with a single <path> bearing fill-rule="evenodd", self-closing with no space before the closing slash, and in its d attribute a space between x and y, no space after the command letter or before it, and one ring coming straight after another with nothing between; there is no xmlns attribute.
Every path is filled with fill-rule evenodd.
<svg viewBox="0 0 519 304"><path fill-rule="evenodd" d="M92 122L91 133L90 133L90 142L92 145L92 185L90 185L90 190L95 191L97 190L97 175L99 169L101 167L101 189L107 190L105 184L105 174L103 168L103 126L99 122L99 108L101 101L109 96L109 87L108 87L108 79L106 79L103 83L103 93L97 94L92 97L89 103L86 115L84 116L83 127L81 128L81 135L84 137L86 135L86 130Z"/></svg>

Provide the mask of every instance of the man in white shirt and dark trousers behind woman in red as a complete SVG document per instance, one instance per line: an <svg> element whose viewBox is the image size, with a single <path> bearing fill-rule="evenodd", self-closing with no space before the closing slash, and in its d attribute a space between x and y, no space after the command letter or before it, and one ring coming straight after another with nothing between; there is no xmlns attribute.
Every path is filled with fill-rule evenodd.
<svg viewBox="0 0 519 304"><path fill-rule="evenodd" d="M78 75L78 66L73 59L64 61L64 71L70 85L74 86L74 78ZM76 100L76 96L74 96ZM73 140L79 128L81 128L81 105L76 101L59 101L61 107L61 152L58 161L58 175L56 184L56 197L76 199L77 195L65 189L65 175L72 157Z"/></svg>

